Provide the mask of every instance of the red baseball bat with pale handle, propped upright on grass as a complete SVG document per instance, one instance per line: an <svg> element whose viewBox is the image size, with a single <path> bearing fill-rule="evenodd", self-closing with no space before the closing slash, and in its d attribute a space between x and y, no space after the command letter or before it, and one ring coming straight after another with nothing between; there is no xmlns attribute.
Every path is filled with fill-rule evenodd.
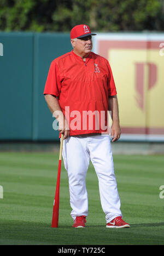
<svg viewBox="0 0 164 256"><path fill-rule="evenodd" d="M58 159L57 183L56 183L55 200L54 200L54 207L53 207L53 213L52 213L52 225L51 225L51 227L58 227L62 149L63 149L63 134L61 134L61 141L60 141L60 153L59 153L59 159Z"/></svg>

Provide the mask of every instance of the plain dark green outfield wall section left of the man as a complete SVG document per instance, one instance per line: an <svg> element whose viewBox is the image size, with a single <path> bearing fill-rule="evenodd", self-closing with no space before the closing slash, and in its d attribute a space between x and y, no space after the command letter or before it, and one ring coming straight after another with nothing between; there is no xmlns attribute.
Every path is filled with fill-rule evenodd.
<svg viewBox="0 0 164 256"><path fill-rule="evenodd" d="M44 100L52 60L71 50L68 34L0 33L0 140L56 140Z"/></svg>

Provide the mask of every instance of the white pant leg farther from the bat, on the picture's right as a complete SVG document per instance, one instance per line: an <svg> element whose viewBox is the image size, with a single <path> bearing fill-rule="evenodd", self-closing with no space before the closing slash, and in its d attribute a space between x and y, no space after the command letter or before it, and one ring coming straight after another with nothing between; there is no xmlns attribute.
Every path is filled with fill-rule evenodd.
<svg viewBox="0 0 164 256"><path fill-rule="evenodd" d="M106 221L108 223L115 217L122 216L110 138L108 135L91 136L88 147L91 162L98 177L102 209L106 214Z"/></svg>

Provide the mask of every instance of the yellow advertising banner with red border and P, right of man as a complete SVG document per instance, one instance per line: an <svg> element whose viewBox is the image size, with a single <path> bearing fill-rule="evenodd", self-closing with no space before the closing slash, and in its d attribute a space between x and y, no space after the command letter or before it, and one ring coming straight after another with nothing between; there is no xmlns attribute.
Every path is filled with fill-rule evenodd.
<svg viewBox="0 0 164 256"><path fill-rule="evenodd" d="M164 141L164 34L99 34L118 92L122 140Z"/></svg>

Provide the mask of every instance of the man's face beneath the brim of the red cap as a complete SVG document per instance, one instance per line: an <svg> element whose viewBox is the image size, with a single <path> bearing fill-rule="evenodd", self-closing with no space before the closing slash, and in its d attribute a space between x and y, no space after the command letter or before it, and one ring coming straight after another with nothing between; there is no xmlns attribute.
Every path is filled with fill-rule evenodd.
<svg viewBox="0 0 164 256"><path fill-rule="evenodd" d="M88 55L92 50L92 36L71 39L74 52L80 56Z"/></svg>

